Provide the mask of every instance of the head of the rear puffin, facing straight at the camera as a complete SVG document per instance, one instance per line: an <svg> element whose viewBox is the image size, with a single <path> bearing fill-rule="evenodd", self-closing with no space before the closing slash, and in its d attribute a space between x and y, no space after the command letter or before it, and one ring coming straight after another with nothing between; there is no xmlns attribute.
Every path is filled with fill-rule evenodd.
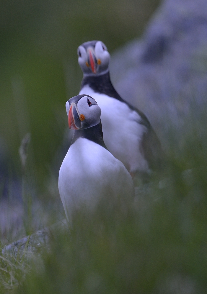
<svg viewBox="0 0 207 294"><path fill-rule="evenodd" d="M107 73L109 60L110 54L102 41L89 41L78 47L78 63L84 76Z"/></svg>

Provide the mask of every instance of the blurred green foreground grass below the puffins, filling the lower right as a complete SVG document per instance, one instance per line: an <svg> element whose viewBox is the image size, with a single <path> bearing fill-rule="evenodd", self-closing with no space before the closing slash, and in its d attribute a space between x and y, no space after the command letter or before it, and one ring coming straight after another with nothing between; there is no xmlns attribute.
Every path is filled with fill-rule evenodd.
<svg viewBox="0 0 207 294"><path fill-rule="evenodd" d="M205 289L206 184L178 161L172 171L162 189L156 179L136 188L125 213L108 201L94 214L74 213L18 293L174 293L168 280Z"/></svg>

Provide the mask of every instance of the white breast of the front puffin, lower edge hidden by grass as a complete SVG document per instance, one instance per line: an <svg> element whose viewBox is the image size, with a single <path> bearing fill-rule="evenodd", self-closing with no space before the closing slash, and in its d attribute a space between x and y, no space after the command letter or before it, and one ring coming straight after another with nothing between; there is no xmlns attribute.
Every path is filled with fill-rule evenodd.
<svg viewBox="0 0 207 294"><path fill-rule="evenodd" d="M124 165L102 146L78 138L69 148L59 172L58 188L68 220L71 210L85 205L93 209L100 197L134 193Z"/></svg>

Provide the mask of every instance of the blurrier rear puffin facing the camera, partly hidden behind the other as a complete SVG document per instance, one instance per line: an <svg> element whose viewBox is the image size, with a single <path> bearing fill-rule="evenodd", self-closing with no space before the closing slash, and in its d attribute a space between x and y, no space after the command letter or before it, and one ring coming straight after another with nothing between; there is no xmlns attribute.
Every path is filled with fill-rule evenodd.
<svg viewBox="0 0 207 294"><path fill-rule="evenodd" d="M78 47L83 71L79 95L92 96L101 108L104 142L131 174L160 170L164 152L146 116L124 101L114 89L108 70L110 54L101 41Z"/></svg>

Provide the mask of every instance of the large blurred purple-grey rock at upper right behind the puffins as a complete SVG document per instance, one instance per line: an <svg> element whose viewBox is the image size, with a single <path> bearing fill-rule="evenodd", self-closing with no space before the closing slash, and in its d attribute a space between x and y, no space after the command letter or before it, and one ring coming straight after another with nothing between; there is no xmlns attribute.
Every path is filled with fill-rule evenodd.
<svg viewBox="0 0 207 294"><path fill-rule="evenodd" d="M143 39L115 52L110 69L115 88L146 114L164 149L172 134L181 144L206 109L207 1L164 1Z"/></svg>

